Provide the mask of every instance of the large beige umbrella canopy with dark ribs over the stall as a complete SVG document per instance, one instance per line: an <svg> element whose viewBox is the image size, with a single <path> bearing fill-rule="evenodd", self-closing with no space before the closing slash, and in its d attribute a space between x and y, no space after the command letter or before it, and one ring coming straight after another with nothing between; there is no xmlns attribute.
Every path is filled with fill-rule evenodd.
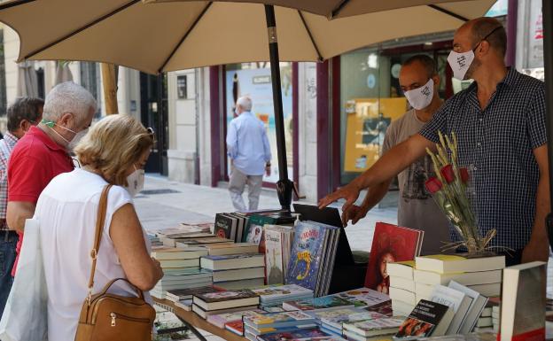
<svg viewBox="0 0 553 341"><path fill-rule="evenodd" d="M408 8L399 8L406 3L400 0L269 3L288 6L275 7L280 59L317 61L372 43L455 29L495 0L409 0ZM327 19L339 3L345 4L338 13L344 18ZM364 14L347 17L356 11ZM102 61L156 74L269 60L262 4L15 0L0 5L0 21L19 34L19 61Z"/></svg>

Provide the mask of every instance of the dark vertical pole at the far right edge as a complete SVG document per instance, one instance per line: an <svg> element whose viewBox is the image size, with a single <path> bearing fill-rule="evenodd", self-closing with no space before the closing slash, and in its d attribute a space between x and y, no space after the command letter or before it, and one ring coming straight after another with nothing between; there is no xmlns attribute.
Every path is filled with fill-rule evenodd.
<svg viewBox="0 0 553 341"><path fill-rule="evenodd" d="M543 0L541 12L543 18L543 65L545 66L545 120L548 136L549 156L549 196L553 205L553 4ZM553 208L550 208L546 219L549 245L553 247Z"/></svg>

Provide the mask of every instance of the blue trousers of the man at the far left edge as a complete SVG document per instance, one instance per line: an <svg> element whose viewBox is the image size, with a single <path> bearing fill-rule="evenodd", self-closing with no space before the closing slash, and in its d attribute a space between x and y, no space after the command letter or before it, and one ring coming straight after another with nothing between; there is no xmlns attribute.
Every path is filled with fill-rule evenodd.
<svg viewBox="0 0 553 341"><path fill-rule="evenodd" d="M0 317L4 313L4 306L12 290L12 267L18 239L15 231L0 231Z"/></svg>

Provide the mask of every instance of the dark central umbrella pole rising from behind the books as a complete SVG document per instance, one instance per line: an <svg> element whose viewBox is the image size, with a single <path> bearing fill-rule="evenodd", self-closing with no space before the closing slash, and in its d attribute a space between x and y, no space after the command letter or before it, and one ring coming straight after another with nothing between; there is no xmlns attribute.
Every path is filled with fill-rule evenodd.
<svg viewBox="0 0 553 341"><path fill-rule="evenodd" d="M293 184L288 179L288 163L286 162L286 142L284 141L284 114L282 104L282 89L280 85L280 59L278 58L277 20L275 8L265 5L265 17L269 34L269 57L271 66L271 82L273 86L273 105L275 107L275 125L277 130L278 182L277 194L282 208L290 210L292 204Z"/></svg>

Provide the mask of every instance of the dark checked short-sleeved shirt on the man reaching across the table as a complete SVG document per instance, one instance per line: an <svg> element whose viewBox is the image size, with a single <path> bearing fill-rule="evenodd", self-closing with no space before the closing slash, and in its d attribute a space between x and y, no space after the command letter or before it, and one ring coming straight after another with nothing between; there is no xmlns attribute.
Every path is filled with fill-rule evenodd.
<svg viewBox="0 0 553 341"><path fill-rule="evenodd" d="M534 225L540 172L534 149L547 143L545 84L511 68L480 109L473 82L451 97L420 134L456 132L459 165L471 171L471 202L481 233L496 229L491 245L523 249ZM459 240L451 230L452 240Z"/></svg>

